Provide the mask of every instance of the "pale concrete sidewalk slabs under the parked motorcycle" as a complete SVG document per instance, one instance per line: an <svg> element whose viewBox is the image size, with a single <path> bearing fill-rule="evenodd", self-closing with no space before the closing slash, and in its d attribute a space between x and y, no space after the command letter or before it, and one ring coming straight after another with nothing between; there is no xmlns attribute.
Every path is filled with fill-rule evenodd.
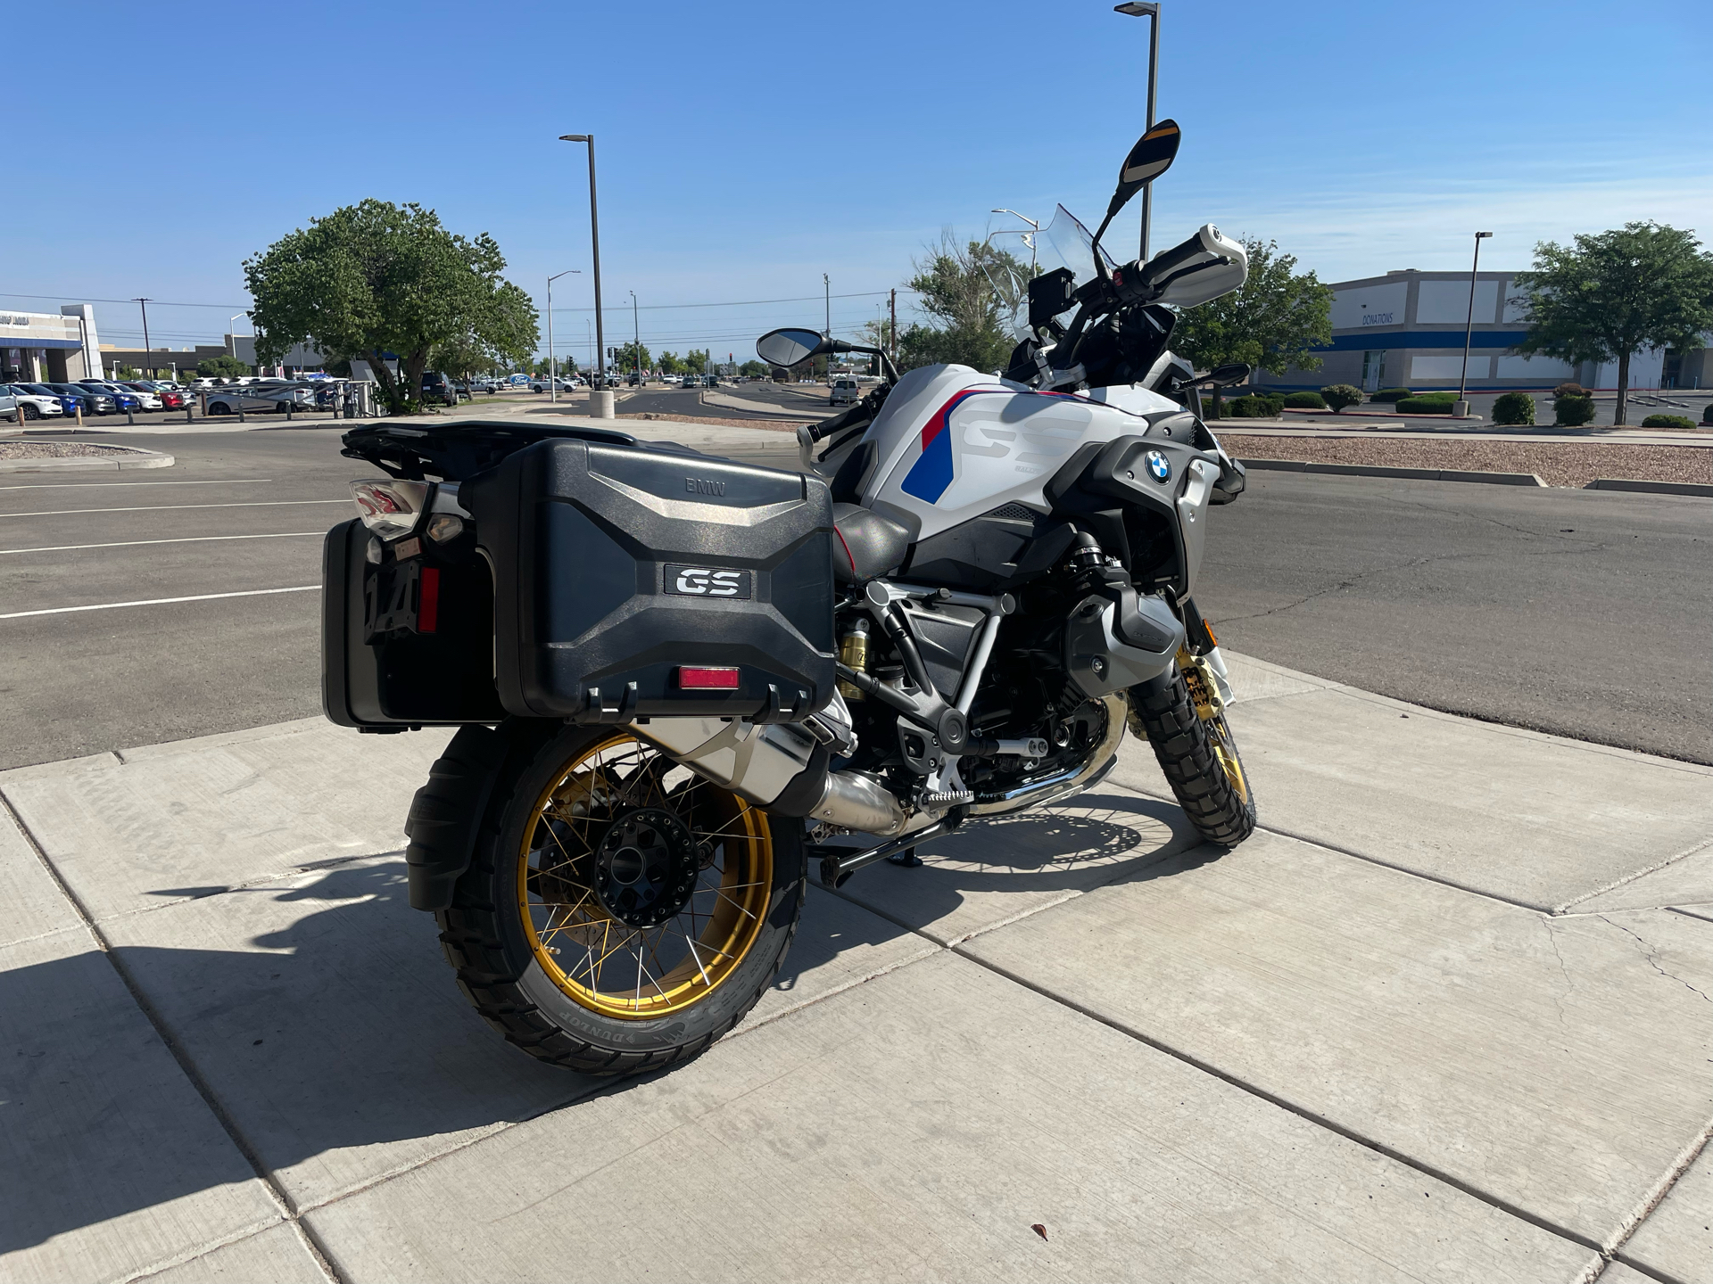
<svg viewBox="0 0 1713 1284"><path fill-rule="evenodd" d="M444 731L3 772L0 1274L1713 1281L1713 770L1232 668L1249 842L1127 743L617 1085L404 904Z"/></svg>

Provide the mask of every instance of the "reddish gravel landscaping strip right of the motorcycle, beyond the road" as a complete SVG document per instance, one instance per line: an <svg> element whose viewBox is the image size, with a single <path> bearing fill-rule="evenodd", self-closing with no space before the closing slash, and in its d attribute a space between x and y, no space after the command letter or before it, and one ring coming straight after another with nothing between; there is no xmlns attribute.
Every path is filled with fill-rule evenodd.
<svg viewBox="0 0 1713 1284"><path fill-rule="evenodd" d="M1713 484L1713 449L1684 445L1403 442L1398 438L1238 437L1233 433L1227 438L1227 450L1238 459L1304 459L1310 464L1533 473L1549 486L1586 486L1595 478Z"/></svg>

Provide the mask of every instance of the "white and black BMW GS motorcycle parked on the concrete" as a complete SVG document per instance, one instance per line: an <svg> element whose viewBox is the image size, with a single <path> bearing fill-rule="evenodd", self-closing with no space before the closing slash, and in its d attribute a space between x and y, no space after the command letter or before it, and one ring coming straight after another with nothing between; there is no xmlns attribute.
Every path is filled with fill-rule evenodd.
<svg viewBox="0 0 1713 1284"><path fill-rule="evenodd" d="M1244 250L1213 226L1146 264L1100 248L1177 144L1136 144L1095 235L1060 207L997 260L1004 375L762 336L774 366L884 372L798 431L802 473L598 426L344 437L387 478L325 541L324 707L457 728L411 805L409 901L510 1043L600 1075L695 1056L771 984L810 866L838 889L1064 801L1125 731L1206 841L1250 834L1192 597L1208 510L1244 490L1199 392L1249 370L1168 348Z"/></svg>

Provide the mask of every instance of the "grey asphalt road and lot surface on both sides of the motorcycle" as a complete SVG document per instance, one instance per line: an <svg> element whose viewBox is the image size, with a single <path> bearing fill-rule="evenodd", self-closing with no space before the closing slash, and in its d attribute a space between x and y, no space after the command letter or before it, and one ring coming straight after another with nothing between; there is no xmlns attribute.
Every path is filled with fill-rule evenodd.
<svg viewBox="0 0 1713 1284"><path fill-rule="evenodd" d="M0 767L320 709L307 589L320 534L351 512L344 483L367 467L339 457L331 425L125 442L178 464L0 474ZM743 454L795 462L785 440ZM1211 527L1197 601L1233 651L1713 757L1704 502L1256 473ZM197 601L161 601L176 597ZM108 609L65 609L81 606Z"/></svg>

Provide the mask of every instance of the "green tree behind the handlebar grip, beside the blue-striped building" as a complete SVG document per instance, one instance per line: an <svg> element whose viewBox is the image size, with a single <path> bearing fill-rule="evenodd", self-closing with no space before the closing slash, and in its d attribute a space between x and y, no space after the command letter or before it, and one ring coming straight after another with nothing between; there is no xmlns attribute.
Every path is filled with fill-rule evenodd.
<svg viewBox="0 0 1713 1284"><path fill-rule="evenodd" d="M1280 253L1278 241L1244 238L1249 277L1230 294L1221 294L1179 317L1172 351L1187 356L1197 370L1232 361L1283 375L1319 370L1310 349L1333 341L1333 289L1314 272L1297 274L1297 255ZM1213 418L1220 418L1220 389L1213 390Z"/></svg>

